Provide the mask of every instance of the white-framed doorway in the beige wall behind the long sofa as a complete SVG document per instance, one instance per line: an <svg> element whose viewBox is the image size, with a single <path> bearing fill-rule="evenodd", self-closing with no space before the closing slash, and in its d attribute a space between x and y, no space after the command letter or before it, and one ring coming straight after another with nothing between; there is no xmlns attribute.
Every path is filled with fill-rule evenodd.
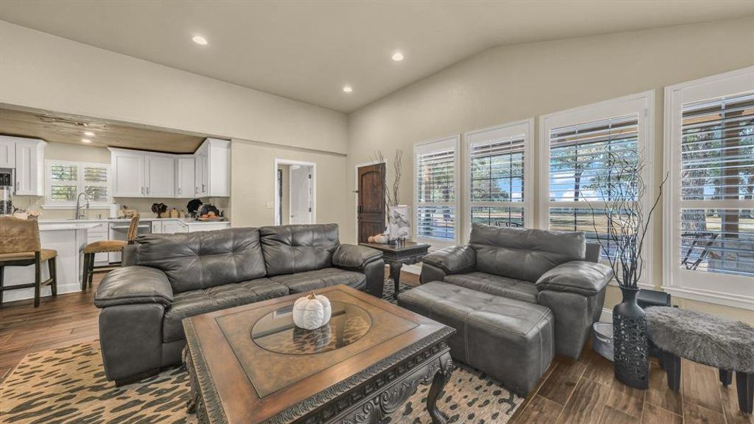
<svg viewBox="0 0 754 424"><path fill-rule="evenodd" d="M275 225L316 223L315 181L314 163L275 159Z"/></svg>

